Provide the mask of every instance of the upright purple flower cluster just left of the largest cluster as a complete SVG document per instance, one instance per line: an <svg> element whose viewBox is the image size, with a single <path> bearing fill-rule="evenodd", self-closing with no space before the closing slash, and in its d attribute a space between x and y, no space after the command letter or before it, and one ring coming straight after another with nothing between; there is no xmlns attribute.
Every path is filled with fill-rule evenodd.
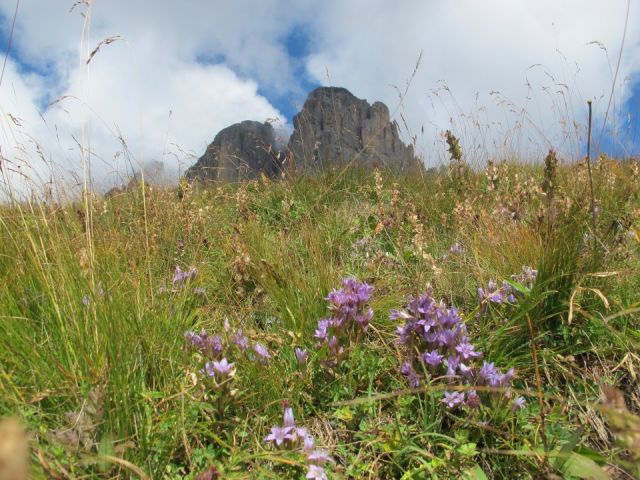
<svg viewBox="0 0 640 480"><path fill-rule="evenodd" d="M358 337L369 327L373 310L368 306L373 287L359 282L355 278L342 281L340 290L329 293L329 311L331 316L318 321L315 338L319 345L327 345L329 359L327 364L335 366L354 336Z"/></svg>

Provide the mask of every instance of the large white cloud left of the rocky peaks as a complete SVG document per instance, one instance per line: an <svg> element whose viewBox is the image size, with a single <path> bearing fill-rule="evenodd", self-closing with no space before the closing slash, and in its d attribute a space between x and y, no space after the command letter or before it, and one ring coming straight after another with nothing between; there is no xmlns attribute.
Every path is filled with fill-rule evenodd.
<svg viewBox="0 0 640 480"><path fill-rule="evenodd" d="M0 4L5 16L13 13L11 3ZM29 135L59 175L81 177L79 143L86 118L93 152L92 177L104 188L118 183L132 168L138 170L143 161L163 162L175 178L177 171L192 164L215 134L229 124L245 119L284 120L258 92L254 79L260 77L263 82L273 75L275 83L275 72L269 72L266 66L277 63L268 62L269 58L281 60L273 48L278 40L252 40L255 48L251 42L247 46L241 41L244 46L236 52L240 54L237 58L245 58L242 54L247 49L253 52L253 56L246 56L249 60L265 55L263 65L258 65L252 76L239 76L229 67L239 65L239 60L201 62L198 57L207 55L222 54L226 58L226 50L234 46L215 50L225 32L210 35L207 27L216 17L198 15L194 2L188 3L184 6L190 6L190 10L178 8L178 2L158 2L154 4L157 8L150 9L146 2L97 1L92 46L119 32L124 32L123 40L104 45L86 67L80 64L77 53L82 30L78 12L69 14L60 3L22 2L15 51L23 64L38 65L46 75L20 73L21 66L9 62L12 74L7 75L0 90L2 108L30 120L22 126L8 125L6 119L10 117L5 116L3 125L12 128L4 135L4 155L23 170L28 162L31 176L48 178L49 162L39 161L33 148L20 154L21 145L7 144L11 135ZM141 18L145 21L140 22ZM224 26L226 33L232 28L224 23L224 17L214 23ZM267 33L271 32L264 34L269 37ZM236 69L250 72L249 66ZM52 78L56 80L53 85ZM60 96L62 100L45 106L41 118L38 110L46 96Z"/></svg>

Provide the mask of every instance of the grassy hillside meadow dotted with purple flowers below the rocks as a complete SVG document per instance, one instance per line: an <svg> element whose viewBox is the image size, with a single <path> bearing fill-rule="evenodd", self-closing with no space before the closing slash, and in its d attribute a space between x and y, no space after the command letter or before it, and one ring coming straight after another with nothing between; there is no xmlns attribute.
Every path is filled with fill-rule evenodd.
<svg viewBox="0 0 640 480"><path fill-rule="evenodd" d="M633 478L640 172L593 176L595 230L551 157L1 207L0 415L33 478Z"/></svg>

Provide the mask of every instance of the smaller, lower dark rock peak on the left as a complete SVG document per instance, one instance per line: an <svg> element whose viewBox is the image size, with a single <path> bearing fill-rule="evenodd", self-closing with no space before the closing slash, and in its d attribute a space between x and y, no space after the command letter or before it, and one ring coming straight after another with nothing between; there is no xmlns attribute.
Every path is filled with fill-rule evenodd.
<svg viewBox="0 0 640 480"><path fill-rule="evenodd" d="M189 168L189 180L236 182L256 178L261 172L273 176L275 134L269 123L245 120L221 130L207 151Z"/></svg>

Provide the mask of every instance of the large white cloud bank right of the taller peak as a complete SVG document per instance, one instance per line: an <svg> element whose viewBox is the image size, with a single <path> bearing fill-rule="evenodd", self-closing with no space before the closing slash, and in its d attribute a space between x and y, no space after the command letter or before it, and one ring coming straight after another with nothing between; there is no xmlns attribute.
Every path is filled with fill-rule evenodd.
<svg viewBox="0 0 640 480"><path fill-rule="evenodd" d="M598 115L607 107L613 83L608 62L616 61L625 9L622 0L330 3L317 19L323 36L308 68L323 84L381 99L393 110L398 95L390 85L404 88L422 51L403 113L428 162L442 154L432 148L434 139L451 119L467 151L482 157L512 151L540 157L540 147L547 146L540 139L546 138L548 146L575 158L580 139L572 121L583 123L589 98ZM639 14L632 4L618 104L629 93L624 79L640 70L640 26L633 21ZM607 47L608 59L589 45L594 40ZM541 65L530 68L534 64ZM445 84L449 91L440 88ZM514 105L499 101L504 98Z"/></svg>

